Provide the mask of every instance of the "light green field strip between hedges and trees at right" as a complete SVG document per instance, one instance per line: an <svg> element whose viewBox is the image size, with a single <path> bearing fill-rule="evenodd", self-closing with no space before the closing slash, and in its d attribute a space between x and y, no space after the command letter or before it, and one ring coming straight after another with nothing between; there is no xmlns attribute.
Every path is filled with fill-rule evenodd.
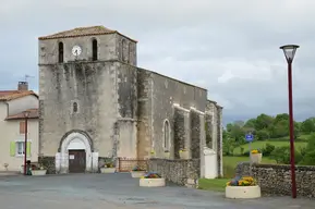
<svg viewBox="0 0 315 209"><path fill-rule="evenodd" d="M266 147L266 144L270 144L274 145L275 147L282 147L282 146L290 146L290 142L281 142L281 140L258 140L258 142L254 142L251 145L252 149L263 149L264 147ZM305 147L306 146L306 142L295 142L295 149L300 149L301 147ZM244 148L244 152L249 151L249 144L246 145L242 145L240 147L234 148L234 155L240 155L241 153L241 147Z"/></svg>

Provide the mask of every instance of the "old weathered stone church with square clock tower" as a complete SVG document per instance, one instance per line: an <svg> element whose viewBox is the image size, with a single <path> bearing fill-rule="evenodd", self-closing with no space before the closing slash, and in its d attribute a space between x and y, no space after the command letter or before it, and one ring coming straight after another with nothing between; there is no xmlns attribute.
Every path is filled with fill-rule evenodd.
<svg viewBox="0 0 315 209"><path fill-rule="evenodd" d="M222 173L222 108L207 89L137 66L137 41L104 26L39 40L39 155L52 172L97 172L99 159L179 158L202 147Z"/></svg>

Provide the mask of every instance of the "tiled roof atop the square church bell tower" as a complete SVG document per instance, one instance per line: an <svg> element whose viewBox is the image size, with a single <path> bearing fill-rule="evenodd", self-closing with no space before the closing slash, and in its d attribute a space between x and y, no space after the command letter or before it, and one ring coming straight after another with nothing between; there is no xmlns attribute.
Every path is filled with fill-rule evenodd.
<svg viewBox="0 0 315 209"><path fill-rule="evenodd" d="M121 36L124 36L120 34L118 30L109 29L102 25L98 26L89 26L89 27L76 27L73 29L59 32L57 34L48 35L48 36L41 36L38 39L39 40L46 40L46 39L58 39L58 38L74 38L74 37L81 37L81 36L97 36L97 35L107 35L107 34L119 34ZM124 36L126 37L126 36ZM129 38L129 37L126 37ZM131 38L129 38L131 39ZM133 39L131 39L133 40ZM133 40L136 42L136 40Z"/></svg>

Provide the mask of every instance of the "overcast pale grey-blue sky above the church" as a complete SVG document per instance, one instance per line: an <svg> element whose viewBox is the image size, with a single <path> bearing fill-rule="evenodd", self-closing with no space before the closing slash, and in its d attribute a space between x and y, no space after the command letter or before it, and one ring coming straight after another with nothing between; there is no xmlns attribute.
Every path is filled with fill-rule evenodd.
<svg viewBox="0 0 315 209"><path fill-rule="evenodd" d="M19 2L19 3L17 3ZM314 0L0 0L0 89L38 89L37 37L104 25L138 40L138 65L206 87L225 123L288 112L281 45L296 44L294 115L315 115Z"/></svg>

